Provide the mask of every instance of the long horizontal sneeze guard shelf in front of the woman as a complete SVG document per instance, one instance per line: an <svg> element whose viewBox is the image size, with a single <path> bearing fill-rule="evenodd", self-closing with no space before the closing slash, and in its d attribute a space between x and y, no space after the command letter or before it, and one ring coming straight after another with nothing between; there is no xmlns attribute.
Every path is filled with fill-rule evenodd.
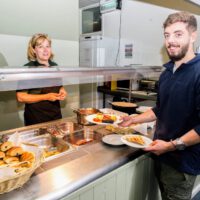
<svg viewBox="0 0 200 200"><path fill-rule="evenodd" d="M8 67L0 69L0 91L127 80L134 75L135 69L132 67Z"/></svg>

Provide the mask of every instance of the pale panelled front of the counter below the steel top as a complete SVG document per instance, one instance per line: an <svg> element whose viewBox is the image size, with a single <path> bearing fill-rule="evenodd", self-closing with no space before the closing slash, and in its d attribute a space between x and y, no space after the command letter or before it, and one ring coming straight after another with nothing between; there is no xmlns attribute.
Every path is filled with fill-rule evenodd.
<svg viewBox="0 0 200 200"><path fill-rule="evenodd" d="M62 200L159 200L151 158L144 155Z"/></svg>

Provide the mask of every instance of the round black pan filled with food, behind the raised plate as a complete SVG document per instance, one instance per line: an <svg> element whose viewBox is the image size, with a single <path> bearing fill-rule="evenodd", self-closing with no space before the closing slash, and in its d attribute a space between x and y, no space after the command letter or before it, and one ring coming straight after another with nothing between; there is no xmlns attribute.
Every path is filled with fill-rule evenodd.
<svg viewBox="0 0 200 200"><path fill-rule="evenodd" d="M130 103L130 102L123 102L123 101L115 101L111 103L112 108L114 110L118 110L121 112L125 112L130 114L136 113L136 108L138 107L137 104L135 103Z"/></svg>

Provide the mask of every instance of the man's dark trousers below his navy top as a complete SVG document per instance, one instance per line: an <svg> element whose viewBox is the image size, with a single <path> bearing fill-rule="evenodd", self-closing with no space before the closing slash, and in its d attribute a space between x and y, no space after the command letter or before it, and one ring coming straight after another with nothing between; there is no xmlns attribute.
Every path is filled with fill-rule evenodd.
<svg viewBox="0 0 200 200"><path fill-rule="evenodd" d="M179 172L176 169L155 161L155 173L160 186L162 200L190 200L196 179L195 175Z"/></svg>

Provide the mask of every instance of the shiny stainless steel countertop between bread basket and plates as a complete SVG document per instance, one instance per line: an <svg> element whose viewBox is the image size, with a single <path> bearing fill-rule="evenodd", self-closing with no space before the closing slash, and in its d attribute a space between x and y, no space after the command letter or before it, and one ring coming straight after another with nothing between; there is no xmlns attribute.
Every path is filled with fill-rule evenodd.
<svg viewBox="0 0 200 200"><path fill-rule="evenodd" d="M91 126L95 127L103 133L104 129ZM113 147L93 141L42 164L22 188L1 195L0 199L60 199L142 154L143 151L128 146Z"/></svg>

